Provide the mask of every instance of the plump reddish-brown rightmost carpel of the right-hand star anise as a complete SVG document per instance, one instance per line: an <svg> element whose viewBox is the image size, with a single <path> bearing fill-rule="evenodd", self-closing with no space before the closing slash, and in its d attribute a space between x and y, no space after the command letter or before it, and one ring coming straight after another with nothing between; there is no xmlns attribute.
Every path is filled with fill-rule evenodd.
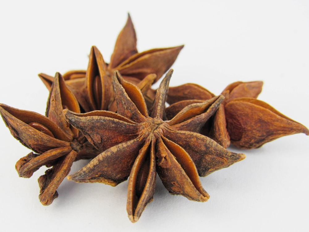
<svg viewBox="0 0 309 232"><path fill-rule="evenodd" d="M285 135L309 131L263 101L238 98L225 106L231 142L239 148L258 148ZM246 120L250 118L250 120Z"/></svg>

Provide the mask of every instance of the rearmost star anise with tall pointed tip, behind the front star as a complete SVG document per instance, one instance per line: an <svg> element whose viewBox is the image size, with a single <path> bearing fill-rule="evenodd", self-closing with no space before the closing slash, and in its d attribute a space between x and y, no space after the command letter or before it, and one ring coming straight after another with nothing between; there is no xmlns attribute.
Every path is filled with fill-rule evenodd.
<svg viewBox="0 0 309 232"><path fill-rule="evenodd" d="M116 111L111 84L114 71L118 70L124 79L137 85L141 85L140 82L149 74L156 74L155 78L151 78L151 85L171 67L182 48L183 45L138 53L136 33L131 17L128 15L125 27L116 40L110 63L105 63L99 50L93 46L90 51L87 71L69 71L64 74L64 79L84 112L92 110ZM50 88L53 77L42 73L39 74L39 77L47 88ZM154 93L149 90L147 96L151 103L153 95Z"/></svg>

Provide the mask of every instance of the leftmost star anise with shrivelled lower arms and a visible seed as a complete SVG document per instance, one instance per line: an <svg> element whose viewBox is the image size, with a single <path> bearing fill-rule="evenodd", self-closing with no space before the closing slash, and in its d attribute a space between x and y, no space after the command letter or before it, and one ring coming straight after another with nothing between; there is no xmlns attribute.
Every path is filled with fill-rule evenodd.
<svg viewBox="0 0 309 232"><path fill-rule="evenodd" d="M11 134L35 152L16 163L19 176L29 178L41 166L52 166L38 179L43 205L51 204L58 196L56 190L69 174L73 161L93 158L99 153L80 131L70 126L63 109L80 112L76 98L58 73L51 88L47 117L0 104L1 116Z"/></svg>

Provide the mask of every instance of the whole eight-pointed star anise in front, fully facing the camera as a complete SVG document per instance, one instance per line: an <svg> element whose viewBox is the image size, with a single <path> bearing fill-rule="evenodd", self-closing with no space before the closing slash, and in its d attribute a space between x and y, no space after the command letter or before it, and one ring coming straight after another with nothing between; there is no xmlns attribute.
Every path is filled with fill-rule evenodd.
<svg viewBox="0 0 309 232"><path fill-rule="evenodd" d="M223 96L188 105L171 120L163 121L171 74L172 70L162 80L149 113L141 91L117 71L112 80L117 114L65 110L68 122L96 148L107 149L68 179L116 186L129 177L127 212L132 222L138 221L153 199L156 172L171 194L206 201L209 195L198 175L206 176L245 157L197 133Z"/></svg>

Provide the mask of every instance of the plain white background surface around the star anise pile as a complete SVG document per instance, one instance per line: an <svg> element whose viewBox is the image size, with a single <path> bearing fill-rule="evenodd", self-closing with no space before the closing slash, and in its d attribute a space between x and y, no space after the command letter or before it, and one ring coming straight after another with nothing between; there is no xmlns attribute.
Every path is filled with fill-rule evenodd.
<svg viewBox="0 0 309 232"><path fill-rule="evenodd" d="M309 2L1 1L0 102L44 114L48 91L37 74L86 69L91 45L106 62L129 12L138 50L184 44L171 86L197 83L219 94L231 82L263 80L259 96L309 126ZM30 151L0 122L2 231L308 231L309 137L277 139L240 151L247 158L201 182L205 203L170 195L157 179L137 223L126 213L127 181L117 187L66 179L50 206L37 178L19 178ZM74 163L72 172L86 161Z"/></svg>

